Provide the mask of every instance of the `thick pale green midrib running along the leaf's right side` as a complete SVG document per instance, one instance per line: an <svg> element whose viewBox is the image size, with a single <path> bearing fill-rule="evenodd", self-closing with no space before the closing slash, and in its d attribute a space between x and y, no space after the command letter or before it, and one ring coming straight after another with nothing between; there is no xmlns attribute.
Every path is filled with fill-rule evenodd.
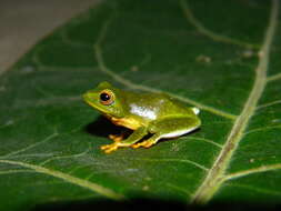
<svg viewBox="0 0 281 211"><path fill-rule="evenodd" d="M222 182L225 181L225 170L230 164L231 158L235 152L239 142L242 140L244 131L251 117L254 114L259 99L267 86L267 70L269 63L269 52L272 44L272 39L277 28L278 19L278 1L272 0L272 9L269 20L269 27L264 37L262 48L259 52L259 63L255 69L255 80L250 96L242 109L241 114L234 121L233 127L227 138L227 141L220 151L217 160L214 161L212 168L203 180L202 184L199 187L198 191L192 198L192 202L205 203L208 202L214 193L219 190Z"/></svg>

